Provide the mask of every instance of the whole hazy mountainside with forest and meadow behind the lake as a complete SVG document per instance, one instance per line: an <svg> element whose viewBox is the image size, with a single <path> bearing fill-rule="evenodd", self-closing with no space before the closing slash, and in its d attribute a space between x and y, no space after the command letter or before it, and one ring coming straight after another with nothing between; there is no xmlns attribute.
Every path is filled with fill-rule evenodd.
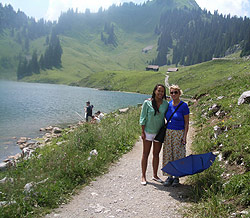
<svg viewBox="0 0 250 218"><path fill-rule="evenodd" d="M164 72L170 65L250 54L249 18L212 15L194 0L130 2L97 13L69 9L55 23L36 22L1 4L0 12L0 79L16 79L18 68L23 81L119 90L123 74L143 78L148 64ZM107 81L114 72L119 78Z"/></svg>

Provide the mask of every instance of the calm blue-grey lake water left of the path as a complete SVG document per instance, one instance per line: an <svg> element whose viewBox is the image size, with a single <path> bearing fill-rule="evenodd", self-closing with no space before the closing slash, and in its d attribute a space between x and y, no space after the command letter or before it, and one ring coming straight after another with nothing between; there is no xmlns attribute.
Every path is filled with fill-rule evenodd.
<svg viewBox="0 0 250 218"><path fill-rule="evenodd" d="M143 103L148 97L66 85L0 81L0 161L20 152L16 145L20 137L35 138L41 136L41 127L78 122L80 116L84 117L86 101L94 105L93 112L109 113Z"/></svg>

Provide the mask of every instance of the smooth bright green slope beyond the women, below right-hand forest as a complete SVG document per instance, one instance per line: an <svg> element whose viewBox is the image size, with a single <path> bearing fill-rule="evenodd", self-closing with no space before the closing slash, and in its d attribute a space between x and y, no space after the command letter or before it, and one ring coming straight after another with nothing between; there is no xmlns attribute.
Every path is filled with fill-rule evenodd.
<svg viewBox="0 0 250 218"><path fill-rule="evenodd" d="M169 83L178 84L185 95L199 95L201 90L221 86L230 78L249 72L250 62L245 59L217 59L202 64L179 68L169 74Z"/></svg>

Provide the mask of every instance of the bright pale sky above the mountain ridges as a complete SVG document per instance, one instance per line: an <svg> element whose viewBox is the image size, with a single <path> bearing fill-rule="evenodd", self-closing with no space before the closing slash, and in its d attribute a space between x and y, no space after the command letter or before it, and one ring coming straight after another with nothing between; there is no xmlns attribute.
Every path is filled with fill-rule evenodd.
<svg viewBox="0 0 250 218"><path fill-rule="evenodd" d="M69 8L78 8L84 12L89 8L91 12L97 12L100 7L108 8L112 4L119 5L123 2L143 3L145 0L0 0L5 4L11 4L17 11L20 9L27 16L36 19L57 20L61 12ZM196 0L198 5L211 11L218 10L222 14L250 17L250 0Z"/></svg>

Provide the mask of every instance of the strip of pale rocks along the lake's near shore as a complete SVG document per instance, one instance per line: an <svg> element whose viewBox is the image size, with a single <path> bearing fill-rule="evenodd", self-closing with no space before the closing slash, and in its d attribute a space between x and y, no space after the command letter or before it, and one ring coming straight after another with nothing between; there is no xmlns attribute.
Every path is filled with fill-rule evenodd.
<svg viewBox="0 0 250 218"><path fill-rule="evenodd" d="M0 163L0 171L7 170L11 166L15 166L17 162L22 159L28 159L31 157L32 153L37 149L49 145L53 138L59 138L62 133L70 133L74 131L75 128L82 125L84 122L79 121L77 124L69 125L68 127L58 127L58 126L48 126L41 128L40 132L43 133L41 138L28 138L20 137L16 144L20 148L20 152L16 155L8 156L3 162ZM58 142L60 145L62 142Z"/></svg>

